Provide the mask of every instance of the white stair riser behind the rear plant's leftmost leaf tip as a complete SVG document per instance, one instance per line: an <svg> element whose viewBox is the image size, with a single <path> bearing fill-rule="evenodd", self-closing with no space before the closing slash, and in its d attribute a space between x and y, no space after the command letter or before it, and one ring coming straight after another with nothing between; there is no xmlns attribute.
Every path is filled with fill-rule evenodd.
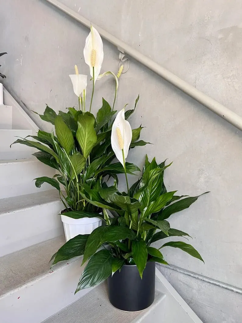
<svg viewBox="0 0 242 323"><path fill-rule="evenodd" d="M10 145L18 139L17 137L25 138L32 134L32 130L0 129L0 160L31 157L36 149L21 144L14 144L10 148Z"/></svg>

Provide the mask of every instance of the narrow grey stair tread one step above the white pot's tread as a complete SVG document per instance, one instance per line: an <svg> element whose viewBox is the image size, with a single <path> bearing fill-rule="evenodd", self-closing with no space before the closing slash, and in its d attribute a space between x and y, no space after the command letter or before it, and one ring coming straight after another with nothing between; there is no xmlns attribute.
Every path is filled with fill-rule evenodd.
<svg viewBox="0 0 242 323"><path fill-rule="evenodd" d="M57 190L6 197L0 199L0 215L59 200L60 197Z"/></svg>

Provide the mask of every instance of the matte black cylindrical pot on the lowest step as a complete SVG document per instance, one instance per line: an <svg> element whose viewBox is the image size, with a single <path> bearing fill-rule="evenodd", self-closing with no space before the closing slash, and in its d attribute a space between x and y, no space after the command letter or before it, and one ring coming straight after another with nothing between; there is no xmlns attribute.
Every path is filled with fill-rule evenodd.
<svg viewBox="0 0 242 323"><path fill-rule="evenodd" d="M110 303L122 311L142 311L154 302L155 280L155 262L147 262L142 279L136 265L124 265L107 279Z"/></svg>

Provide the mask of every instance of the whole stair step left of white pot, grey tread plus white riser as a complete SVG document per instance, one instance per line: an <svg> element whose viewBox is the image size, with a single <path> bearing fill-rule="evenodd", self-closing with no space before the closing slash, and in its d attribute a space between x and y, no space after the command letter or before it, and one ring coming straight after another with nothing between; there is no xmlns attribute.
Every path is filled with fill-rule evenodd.
<svg viewBox="0 0 242 323"><path fill-rule="evenodd" d="M63 234L62 208L57 190L0 199L0 256Z"/></svg>

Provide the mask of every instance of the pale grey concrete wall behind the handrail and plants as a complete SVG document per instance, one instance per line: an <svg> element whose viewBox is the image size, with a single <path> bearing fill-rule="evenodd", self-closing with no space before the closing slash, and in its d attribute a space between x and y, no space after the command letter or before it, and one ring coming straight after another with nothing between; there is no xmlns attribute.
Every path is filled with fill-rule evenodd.
<svg viewBox="0 0 242 323"><path fill-rule="evenodd" d="M241 1L62 2L241 115ZM87 29L44 0L0 0L0 7L1 51L8 52L1 57L6 88L29 110L43 112L45 103L56 111L76 104L68 74L75 64L88 73L83 59ZM102 71L115 72L118 51L106 42L104 51ZM102 96L111 102L113 91L112 79L98 81L95 109ZM211 191L170 218L172 227L193 237L205 265L169 248L164 249L167 261L241 288L241 132L131 60L120 79L116 108L132 106L138 93L131 124L142 123L142 139L153 145L130 151L128 160L142 166L145 153L157 161L168 158L173 161L166 171L168 190ZM162 272L204 322L242 321L241 295L169 269Z"/></svg>

